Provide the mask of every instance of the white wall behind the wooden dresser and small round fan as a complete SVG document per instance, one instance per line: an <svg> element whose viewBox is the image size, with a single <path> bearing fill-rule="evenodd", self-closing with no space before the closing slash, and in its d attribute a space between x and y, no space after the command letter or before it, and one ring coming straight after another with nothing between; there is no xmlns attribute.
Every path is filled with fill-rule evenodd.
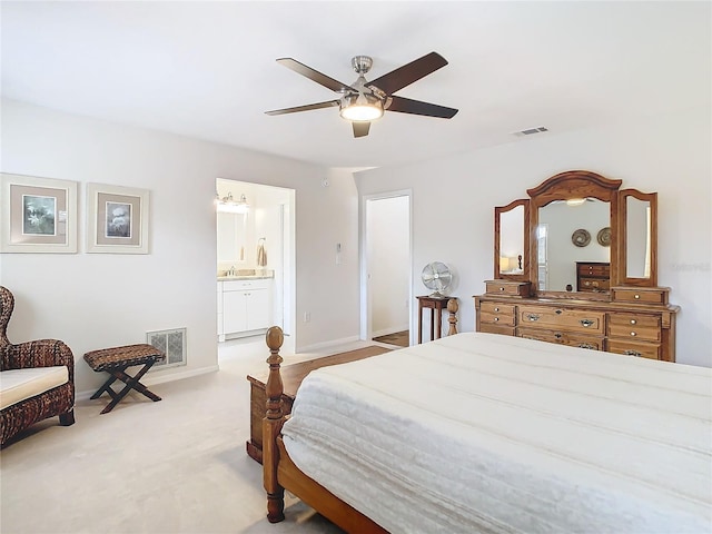
<svg viewBox="0 0 712 534"><path fill-rule="evenodd" d="M428 162L357 175L359 195L413 189L414 294L419 270L439 260L458 273L458 329L474 329L473 295L493 276L493 210L565 170L620 178L659 191L659 285L672 288L678 362L712 366L710 109L636 123L538 137ZM456 120L456 119L454 119ZM442 206L435 211L433 206ZM416 308L417 310L417 308Z"/></svg>

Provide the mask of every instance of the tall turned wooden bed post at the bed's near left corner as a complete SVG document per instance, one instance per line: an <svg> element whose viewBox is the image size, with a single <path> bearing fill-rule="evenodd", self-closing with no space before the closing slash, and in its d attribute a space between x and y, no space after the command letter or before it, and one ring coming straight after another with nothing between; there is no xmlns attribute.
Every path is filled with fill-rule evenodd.
<svg viewBox="0 0 712 534"><path fill-rule="evenodd" d="M283 400L284 384L279 374L279 364L283 358L279 349L285 340L281 328L273 326L267 330L267 346L269 347L269 377L265 386L267 396L267 413L263 419L263 476L267 491L267 520L278 523L285 518L285 490L277 481L277 464L279 452L277 451L277 437L284 424Z"/></svg>

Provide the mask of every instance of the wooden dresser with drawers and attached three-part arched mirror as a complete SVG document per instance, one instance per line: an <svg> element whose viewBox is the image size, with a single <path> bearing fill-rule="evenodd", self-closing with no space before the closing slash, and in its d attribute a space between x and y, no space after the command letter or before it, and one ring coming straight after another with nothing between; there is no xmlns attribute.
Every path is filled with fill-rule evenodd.
<svg viewBox="0 0 712 534"><path fill-rule="evenodd" d="M670 288L657 287L657 194L621 184L572 170L527 190L526 199L495 208L495 277L474 297L477 332L675 360L680 307L670 304ZM581 202L571 219L544 209L561 210L563 200L581 198L591 200L584 205L590 214L597 210L597 219ZM562 234L548 227L553 221L577 228L571 235L576 248L553 243ZM582 226L601 228L596 240L605 248L586 247L591 235ZM523 255L523 275L500 270L505 250Z"/></svg>

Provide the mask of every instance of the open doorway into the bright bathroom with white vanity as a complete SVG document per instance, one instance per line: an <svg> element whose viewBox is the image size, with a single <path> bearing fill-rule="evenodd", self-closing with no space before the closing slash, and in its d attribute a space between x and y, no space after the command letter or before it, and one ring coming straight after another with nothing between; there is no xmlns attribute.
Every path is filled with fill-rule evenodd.
<svg viewBox="0 0 712 534"><path fill-rule="evenodd" d="M217 274L222 279L222 298L218 294L218 346L221 342L245 343L264 339L269 326L279 326L285 334L284 350L294 352L295 346L295 190L289 188L265 186L246 181L216 179L216 202L219 199L235 199L240 212L239 233L225 235L225 212L217 210ZM231 220L231 219L230 219ZM233 226L229 227L233 229ZM238 239L239 237L239 239ZM235 243L235 240L239 243ZM230 246L227 247L226 244ZM239 279L254 283L246 304L239 296L225 293L225 278L230 273ZM236 278L238 279L238 278ZM229 279L231 283L233 279ZM231 284L237 286L237 284ZM263 287L264 286L264 287ZM218 289L220 284L218 281ZM239 291L241 288L237 288ZM268 297L263 298L265 295ZM226 295L227 299L226 308ZM250 300L250 298L253 300ZM251 304L250 304L251 303ZM240 307L245 306L246 313ZM266 309L265 309L266 308ZM226 314L231 314L226 320ZM243 328L239 315L247 317ZM259 319L258 317L264 317ZM257 323L255 323L257 322ZM251 323L251 324L250 324ZM225 325L231 327L227 332ZM263 340L264 343L264 340ZM218 350L219 353L219 350Z"/></svg>

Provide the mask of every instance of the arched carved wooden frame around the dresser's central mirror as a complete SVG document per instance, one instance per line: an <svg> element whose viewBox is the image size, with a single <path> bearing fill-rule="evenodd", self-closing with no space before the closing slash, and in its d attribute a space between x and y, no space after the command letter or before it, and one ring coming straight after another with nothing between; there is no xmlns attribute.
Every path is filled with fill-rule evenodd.
<svg viewBox="0 0 712 534"><path fill-rule="evenodd" d="M611 220L611 287L617 286L620 281L619 248L620 248L620 225L619 225L619 188L623 180L612 180L589 170L570 170L560 172L544 180L541 185L527 189L526 192L532 199L530 207L528 238L530 258L537 258L536 227L538 226L538 208L553 202L554 200L570 200L574 198L597 198L604 202L610 202ZM582 294L578 291L538 291L538 268L537 261L530 261L528 279L532 283L532 293L541 297L550 298L578 298L585 300L607 300L610 291L600 294Z"/></svg>

